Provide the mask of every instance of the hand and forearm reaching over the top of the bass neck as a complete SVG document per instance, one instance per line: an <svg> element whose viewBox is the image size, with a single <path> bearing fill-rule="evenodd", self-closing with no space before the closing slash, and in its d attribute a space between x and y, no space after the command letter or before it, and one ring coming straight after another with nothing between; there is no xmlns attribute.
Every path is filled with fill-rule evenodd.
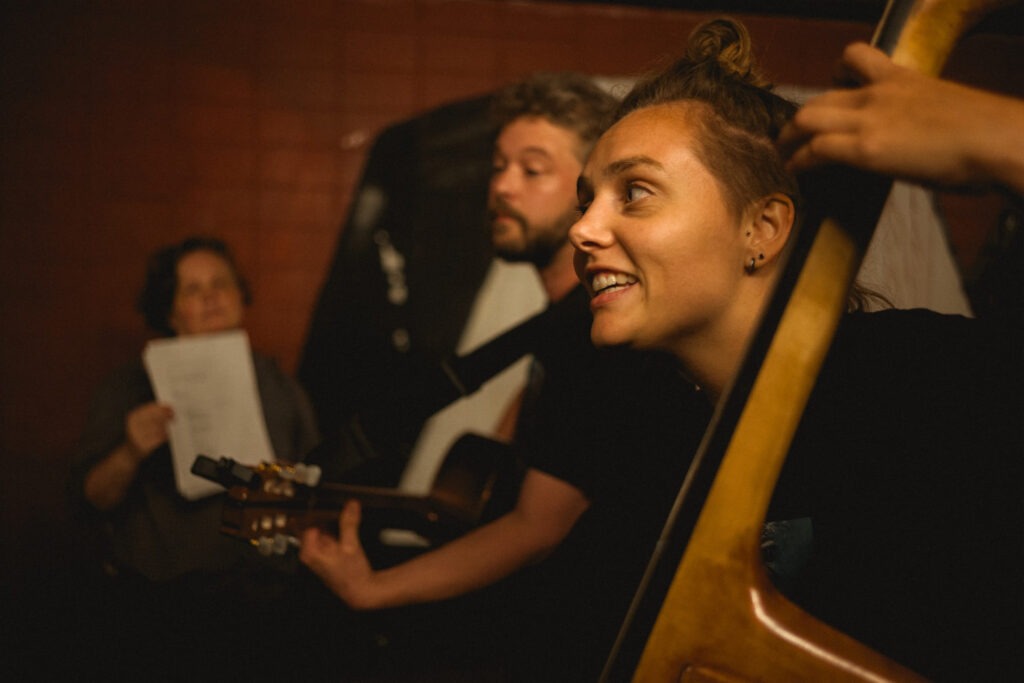
<svg viewBox="0 0 1024 683"><path fill-rule="evenodd" d="M1024 193L1024 101L925 76L864 43L848 46L841 66L863 85L811 98L783 128L791 170L840 163Z"/></svg>

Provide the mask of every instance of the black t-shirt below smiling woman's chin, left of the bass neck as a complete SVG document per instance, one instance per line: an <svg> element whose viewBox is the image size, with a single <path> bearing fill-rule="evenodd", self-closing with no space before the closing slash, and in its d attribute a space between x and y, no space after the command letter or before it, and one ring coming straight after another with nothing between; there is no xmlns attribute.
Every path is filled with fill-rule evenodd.
<svg viewBox="0 0 1024 683"><path fill-rule="evenodd" d="M710 413L674 358L596 349L582 295L535 353L516 432L529 467L591 504L551 556L511 582L523 596L522 680L596 680Z"/></svg>

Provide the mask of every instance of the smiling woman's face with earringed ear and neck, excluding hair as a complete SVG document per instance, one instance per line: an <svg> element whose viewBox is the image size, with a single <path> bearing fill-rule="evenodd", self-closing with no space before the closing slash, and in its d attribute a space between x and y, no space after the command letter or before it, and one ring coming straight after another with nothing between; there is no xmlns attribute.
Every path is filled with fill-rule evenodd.
<svg viewBox="0 0 1024 683"><path fill-rule="evenodd" d="M658 104L610 130L588 162L583 186L599 180L572 232L586 256L578 259L579 274L594 295L594 341L670 349L718 396L745 347L737 332L753 328L795 211L780 191L743 205L728 201L695 152L699 115L698 105ZM599 289L612 278L614 287ZM711 348L729 362L698 362Z"/></svg>

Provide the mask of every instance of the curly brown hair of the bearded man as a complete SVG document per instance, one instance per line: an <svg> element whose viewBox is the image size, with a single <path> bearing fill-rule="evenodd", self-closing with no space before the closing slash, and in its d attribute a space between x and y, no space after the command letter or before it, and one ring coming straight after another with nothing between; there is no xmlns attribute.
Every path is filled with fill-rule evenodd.
<svg viewBox="0 0 1024 683"><path fill-rule="evenodd" d="M585 158L617 105L618 99L588 76L541 72L499 90L492 101L490 118L499 128L521 117L547 119L580 137Z"/></svg>

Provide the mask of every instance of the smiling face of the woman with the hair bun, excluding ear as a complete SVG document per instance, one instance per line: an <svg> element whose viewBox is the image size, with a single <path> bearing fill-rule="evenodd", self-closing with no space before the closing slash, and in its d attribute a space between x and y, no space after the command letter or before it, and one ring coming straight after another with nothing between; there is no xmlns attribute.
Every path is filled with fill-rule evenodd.
<svg viewBox="0 0 1024 683"><path fill-rule="evenodd" d="M569 230L590 291L592 338L674 352L715 343L736 317L746 257L740 216L694 155L693 110L638 110L598 141Z"/></svg>

